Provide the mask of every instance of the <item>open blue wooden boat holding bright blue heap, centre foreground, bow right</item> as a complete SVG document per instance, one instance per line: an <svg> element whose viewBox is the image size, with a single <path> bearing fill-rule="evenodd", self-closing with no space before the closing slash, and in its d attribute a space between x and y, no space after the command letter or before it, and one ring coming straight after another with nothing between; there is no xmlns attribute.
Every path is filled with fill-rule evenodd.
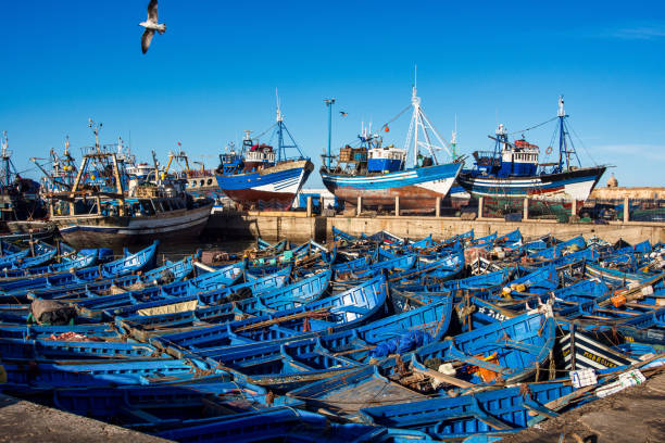
<svg viewBox="0 0 665 443"><path fill-rule="evenodd" d="M219 360L247 376L247 380L281 391L315 380L348 372L385 356L394 346L411 351L446 334L451 319L452 299L389 316L355 329L331 328L329 333L301 334L226 349L199 349L199 355Z"/></svg>

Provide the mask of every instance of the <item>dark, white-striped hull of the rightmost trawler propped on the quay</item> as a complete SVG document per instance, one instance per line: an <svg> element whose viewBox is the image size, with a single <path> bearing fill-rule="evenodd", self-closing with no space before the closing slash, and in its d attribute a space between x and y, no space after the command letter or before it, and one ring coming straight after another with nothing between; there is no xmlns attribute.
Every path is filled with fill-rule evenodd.
<svg viewBox="0 0 665 443"><path fill-rule="evenodd" d="M604 174L606 166L582 167L534 177L482 177L469 170L460 173L457 182L473 197L534 200L576 200L584 202Z"/></svg>

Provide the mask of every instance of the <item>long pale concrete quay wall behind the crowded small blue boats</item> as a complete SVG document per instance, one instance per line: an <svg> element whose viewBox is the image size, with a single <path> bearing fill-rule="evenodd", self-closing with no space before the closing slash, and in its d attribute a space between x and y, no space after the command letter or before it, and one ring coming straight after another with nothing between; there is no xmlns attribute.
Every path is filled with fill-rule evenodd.
<svg viewBox="0 0 665 443"><path fill-rule="evenodd" d="M523 236L537 238L553 233L560 239L577 235L586 238L597 236L615 242L624 239L629 243L643 240L665 242L665 223L610 221L606 225L568 223L556 220L505 221L502 218L463 220L459 217L435 216L308 216L304 212L224 212L213 214L208 224L210 236L223 240L261 237L266 240L288 238L292 241L315 239L319 242L332 240L332 227L357 236L387 230L399 237L421 239L430 233L436 240L449 238L474 229L476 237L498 231L499 235L519 228Z"/></svg>

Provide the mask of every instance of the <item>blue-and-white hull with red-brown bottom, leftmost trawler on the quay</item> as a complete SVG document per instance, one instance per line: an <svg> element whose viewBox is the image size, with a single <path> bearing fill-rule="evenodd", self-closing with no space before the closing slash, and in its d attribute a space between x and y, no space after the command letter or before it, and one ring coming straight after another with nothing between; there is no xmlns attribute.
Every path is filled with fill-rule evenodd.
<svg viewBox="0 0 665 443"><path fill-rule="evenodd" d="M217 174L219 189L234 202L254 208L289 210L314 165L309 160L284 162L248 174Z"/></svg>

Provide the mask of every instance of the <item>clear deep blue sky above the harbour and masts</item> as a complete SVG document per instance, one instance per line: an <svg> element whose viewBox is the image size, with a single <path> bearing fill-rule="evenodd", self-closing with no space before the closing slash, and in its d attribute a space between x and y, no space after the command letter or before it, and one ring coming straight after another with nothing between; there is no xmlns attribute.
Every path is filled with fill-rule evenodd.
<svg viewBox="0 0 665 443"><path fill-rule="evenodd" d="M1 1L0 130L21 170L66 135L79 159L88 117L143 160L154 149L165 161L180 141L216 166L244 129L273 124L276 87L287 126L321 164L323 100L348 112L334 116L338 148L361 122L378 127L409 104L417 64L424 110L447 139L457 115L463 153L490 148L498 123L554 116L564 93L582 163L616 165L619 185L663 185L663 2L162 0L167 31L143 55L147 3ZM403 144L406 126L386 141ZM553 129L526 135L547 147Z"/></svg>

